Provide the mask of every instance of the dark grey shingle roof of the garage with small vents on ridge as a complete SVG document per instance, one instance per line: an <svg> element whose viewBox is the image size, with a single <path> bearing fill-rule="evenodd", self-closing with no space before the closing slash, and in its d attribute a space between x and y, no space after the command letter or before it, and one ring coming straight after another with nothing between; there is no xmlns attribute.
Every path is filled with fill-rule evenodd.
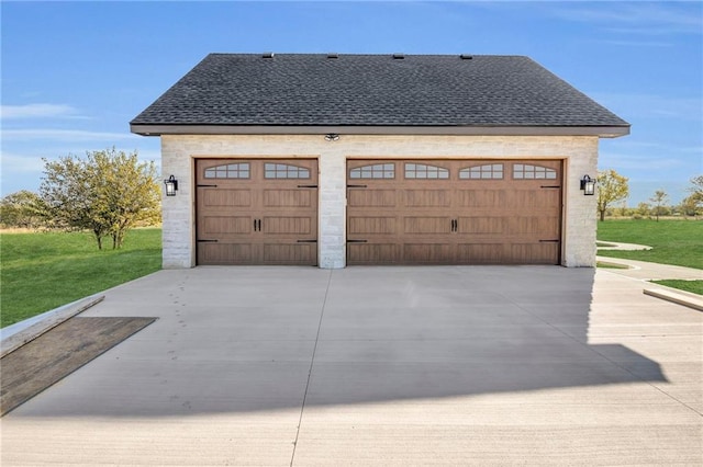
<svg viewBox="0 0 703 467"><path fill-rule="evenodd" d="M210 54L131 124L624 126L522 56ZM140 133L140 132L136 132Z"/></svg>

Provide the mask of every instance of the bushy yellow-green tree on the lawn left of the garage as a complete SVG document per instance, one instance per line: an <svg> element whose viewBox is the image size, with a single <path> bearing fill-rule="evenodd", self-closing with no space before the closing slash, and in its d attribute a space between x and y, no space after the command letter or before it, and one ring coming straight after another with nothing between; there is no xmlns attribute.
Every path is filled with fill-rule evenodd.
<svg viewBox="0 0 703 467"><path fill-rule="evenodd" d="M112 237L122 246L126 231L138 221L159 216L160 190L153 162L138 162L136 151L114 148L46 161L40 195L56 227L90 230L98 248Z"/></svg>

